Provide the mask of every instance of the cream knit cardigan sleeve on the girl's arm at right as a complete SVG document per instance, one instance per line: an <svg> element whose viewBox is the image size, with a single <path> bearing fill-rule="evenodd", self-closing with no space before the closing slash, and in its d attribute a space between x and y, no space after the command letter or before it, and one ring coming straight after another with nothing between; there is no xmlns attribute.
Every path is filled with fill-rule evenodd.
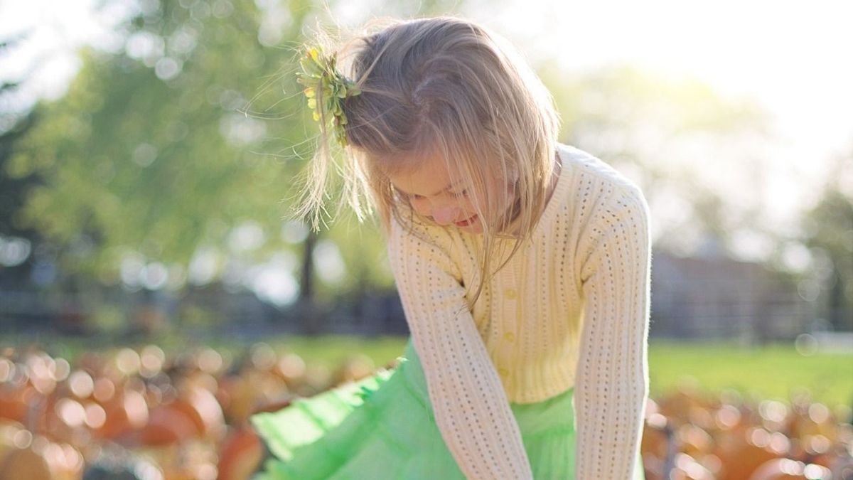
<svg viewBox="0 0 853 480"><path fill-rule="evenodd" d="M632 478L639 454L648 395L648 218L641 191L619 185L589 220L580 261L577 478Z"/></svg>

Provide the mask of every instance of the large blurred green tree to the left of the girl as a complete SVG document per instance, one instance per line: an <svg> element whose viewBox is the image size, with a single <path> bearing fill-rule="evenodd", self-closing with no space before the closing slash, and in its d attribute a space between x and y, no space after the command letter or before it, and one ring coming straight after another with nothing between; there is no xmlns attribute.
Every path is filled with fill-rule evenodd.
<svg viewBox="0 0 853 480"><path fill-rule="evenodd" d="M458 4L388 2L384 13ZM254 288L269 284L269 275L301 277L298 295L309 303L389 284L375 273L384 251L378 229L363 227L354 242L346 221L296 237L281 222L316 132L292 78L294 47L306 26L328 14L360 23L373 9L311 0L131 5L120 27L123 48L81 53L67 95L38 106L40 121L11 145L4 168L10 179L43 179L26 191L20 218L52 242L75 246L63 250L61 268L154 290L218 279ZM334 248L317 255L315 244L329 246L322 237ZM258 268L281 253L302 260ZM312 261L322 268L329 258L345 268L321 275L315 289ZM293 292L272 290L269 299L292 300Z"/></svg>

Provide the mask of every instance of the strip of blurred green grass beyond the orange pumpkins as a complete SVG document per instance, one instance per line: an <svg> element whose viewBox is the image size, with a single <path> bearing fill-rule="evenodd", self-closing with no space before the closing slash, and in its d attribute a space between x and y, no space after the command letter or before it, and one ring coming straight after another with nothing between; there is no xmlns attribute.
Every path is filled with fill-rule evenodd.
<svg viewBox="0 0 853 480"><path fill-rule="evenodd" d="M188 347L209 346L223 354L247 354L252 342L208 337L204 341L165 336L145 342L113 343L82 337L3 337L0 348L24 346L36 342L70 361L93 350L110 351L120 347L140 347L154 342L166 354L177 354ZM276 352L299 354L308 365L339 365L352 354L364 354L374 365L385 366L403 353L405 337L270 337L267 343ZM752 400L790 401L793 394L809 391L814 401L830 407L853 406L853 355L799 354L791 344L741 347L719 342L651 342L649 347L650 389L653 398L665 395L681 383L692 383L705 394L734 389Z"/></svg>

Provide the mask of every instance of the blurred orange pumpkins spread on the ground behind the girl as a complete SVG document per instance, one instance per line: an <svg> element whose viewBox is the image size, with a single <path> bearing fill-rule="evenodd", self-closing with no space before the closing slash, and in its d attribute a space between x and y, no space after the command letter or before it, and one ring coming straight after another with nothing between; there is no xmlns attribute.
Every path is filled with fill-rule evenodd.
<svg viewBox="0 0 853 480"><path fill-rule="evenodd" d="M252 413L375 370L361 354L328 369L265 343L242 356L120 348L74 365L5 348L0 478L247 479L265 454ZM649 400L641 455L648 480L850 479L853 426L805 393L790 403L747 401L683 383Z"/></svg>

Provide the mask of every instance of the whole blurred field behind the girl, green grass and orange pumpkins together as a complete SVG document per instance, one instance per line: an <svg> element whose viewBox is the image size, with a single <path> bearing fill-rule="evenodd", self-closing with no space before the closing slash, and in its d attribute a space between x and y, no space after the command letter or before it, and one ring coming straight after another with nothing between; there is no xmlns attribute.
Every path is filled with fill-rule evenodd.
<svg viewBox="0 0 853 480"><path fill-rule="evenodd" d="M0 478L113 478L115 465L144 464L165 480L246 480L264 455L253 413L366 378L406 340L0 336ZM853 354L804 351L653 342L646 477L754 480L784 466L848 478Z"/></svg>

